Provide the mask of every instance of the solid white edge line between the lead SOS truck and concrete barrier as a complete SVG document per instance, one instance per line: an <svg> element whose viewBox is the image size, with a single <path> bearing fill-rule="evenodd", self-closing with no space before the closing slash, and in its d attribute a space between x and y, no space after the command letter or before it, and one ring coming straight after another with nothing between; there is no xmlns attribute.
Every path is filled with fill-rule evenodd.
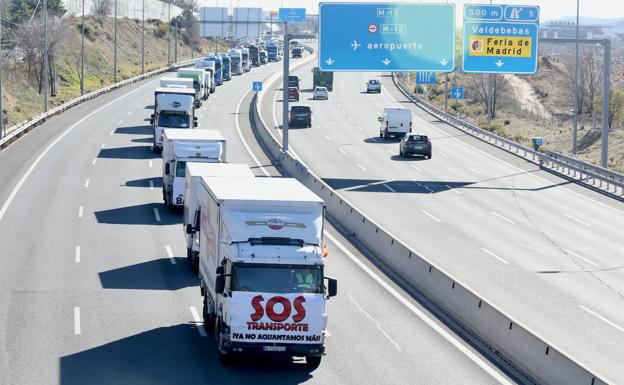
<svg viewBox="0 0 624 385"><path fill-rule="evenodd" d="M486 361L484 361L481 357L476 355L472 350L468 349L468 347L464 346L454 335L447 332L440 325L438 325L432 318L428 317L425 313L419 310L414 304L408 301L405 297L403 297L398 291L396 291L392 286L390 286L386 281L381 279L374 271L372 271L368 266L366 266L362 261L360 261L353 253L349 251L338 239L336 239L333 235L331 235L328 231L323 231L325 236L334 244L336 247L340 249L349 259L351 259L356 265L358 265L366 274L368 274L371 278L373 278L381 287L386 289L388 293L390 293L394 298L396 298L401 304L403 304L408 310L414 313L418 318L420 318L427 326L429 326L433 331L438 333L448 342L450 342L453 346L457 348L460 352L462 352L466 357L471 359L474 363L479 365L485 372L487 372L490 376L494 377L501 384L511 385L511 382L503 377L500 373L497 372L496 369L491 367Z"/></svg>

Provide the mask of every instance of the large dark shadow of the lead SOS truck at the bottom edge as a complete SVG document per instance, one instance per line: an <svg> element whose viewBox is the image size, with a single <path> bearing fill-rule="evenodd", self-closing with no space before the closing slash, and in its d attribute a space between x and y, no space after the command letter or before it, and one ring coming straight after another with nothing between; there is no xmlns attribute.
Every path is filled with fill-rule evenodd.
<svg viewBox="0 0 624 385"><path fill-rule="evenodd" d="M292 385L312 377L305 365L285 360L241 359L222 366L214 339L200 337L191 324L160 327L70 354L60 358L59 366L62 385Z"/></svg>

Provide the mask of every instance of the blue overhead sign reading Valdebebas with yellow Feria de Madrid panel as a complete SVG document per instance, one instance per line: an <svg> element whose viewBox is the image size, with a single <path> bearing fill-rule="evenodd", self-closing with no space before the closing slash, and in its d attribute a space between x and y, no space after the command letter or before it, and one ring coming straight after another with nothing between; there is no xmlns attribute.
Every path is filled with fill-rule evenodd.
<svg viewBox="0 0 624 385"><path fill-rule="evenodd" d="M464 72L534 74L538 6L464 5Z"/></svg>

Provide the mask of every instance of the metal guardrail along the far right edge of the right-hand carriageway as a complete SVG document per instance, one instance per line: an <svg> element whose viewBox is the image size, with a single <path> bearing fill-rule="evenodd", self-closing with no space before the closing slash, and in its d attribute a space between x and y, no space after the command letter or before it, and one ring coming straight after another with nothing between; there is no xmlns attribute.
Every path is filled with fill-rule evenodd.
<svg viewBox="0 0 624 385"><path fill-rule="evenodd" d="M535 151L527 146L503 138L500 135L484 130L481 127L442 111L433 104L415 96L403 82L397 79L394 73L392 74L392 81L399 91L411 102L436 118L486 143L495 145L511 154L535 163L539 165L540 168L548 169L551 172L573 179L585 187L595 189L617 199L623 199L624 175L563 154Z"/></svg>

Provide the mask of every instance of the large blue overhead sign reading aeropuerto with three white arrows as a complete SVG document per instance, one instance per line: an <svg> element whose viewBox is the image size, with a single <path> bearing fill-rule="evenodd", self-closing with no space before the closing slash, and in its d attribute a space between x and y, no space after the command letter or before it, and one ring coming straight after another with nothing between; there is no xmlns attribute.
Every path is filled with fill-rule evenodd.
<svg viewBox="0 0 624 385"><path fill-rule="evenodd" d="M321 71L455 68L454 4L320 3Z"/></svg>

